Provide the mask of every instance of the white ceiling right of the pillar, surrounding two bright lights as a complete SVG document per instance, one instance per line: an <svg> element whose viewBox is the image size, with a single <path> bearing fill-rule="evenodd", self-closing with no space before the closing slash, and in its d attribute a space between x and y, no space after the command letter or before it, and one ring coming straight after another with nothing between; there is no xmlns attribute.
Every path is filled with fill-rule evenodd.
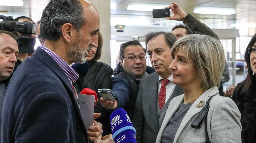
<svg viewBox="0 0 256 143"><path fill-rule="evenodd" d="M256 24L256 0L172 0L180 5L186 12L194 15L206 25L212 28L227 28L235 23L251 23ZM131 4L155 4L155 5L170 5L170 0L111 0L116 6L112 7L111 15L126 16L126 17L149 17L151 21L158 21L159 19L152 18L152 12L143 11L128 11L127 6ZM196 6L202 7L220 7L220 8L234 8L236 14L233 15L210 15L210 14L194 14L193 10ZM161 21L165 19L160 19ZM167 21L167 20L166 20Z"/></svg>

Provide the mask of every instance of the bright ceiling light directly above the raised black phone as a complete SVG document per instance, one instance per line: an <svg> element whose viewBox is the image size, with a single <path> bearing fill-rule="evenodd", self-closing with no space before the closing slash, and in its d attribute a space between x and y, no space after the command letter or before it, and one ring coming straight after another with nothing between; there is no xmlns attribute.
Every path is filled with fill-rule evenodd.
<svg viewBox="0 0 256 143"><path fill-rule="evenodd" d="M164 9L168 5L128 5L127 10L135 10L135 11L152 11L153 9Z"/></svg>

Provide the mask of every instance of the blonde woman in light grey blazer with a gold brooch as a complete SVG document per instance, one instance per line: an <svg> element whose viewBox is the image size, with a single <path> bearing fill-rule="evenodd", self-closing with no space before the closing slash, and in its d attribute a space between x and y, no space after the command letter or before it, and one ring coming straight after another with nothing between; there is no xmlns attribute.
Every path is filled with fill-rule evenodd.
<svg viewBox="0 0 256 143"><path fill-rule="evenodd" d="M156 143L204 143L206 138L213 143L240 143L241 114L233 100L219 96L225 66L220 41L206 35L187 35L174 43L171 55L173 83L182 87L184 94L170 101ZM192 128L211 96L207 129L204 120L200 129Z"/></svg>

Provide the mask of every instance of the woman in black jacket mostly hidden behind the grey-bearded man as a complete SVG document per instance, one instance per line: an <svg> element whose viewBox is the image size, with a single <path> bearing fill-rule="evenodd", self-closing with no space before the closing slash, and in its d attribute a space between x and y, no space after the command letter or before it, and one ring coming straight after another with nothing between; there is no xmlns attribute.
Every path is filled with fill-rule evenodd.
<svg viewBox="0 0 256 143"><path fill-rule="evenodd" d="M97 60L101 57L101 48L103 45L103 39L101 33L98 32L98 47L91 47L91 50L88 51L87 62L89 63L89 71L85 77L79 78L74 86L78 93L81 92L84 88L90 88L97 93L98 102L94 107L95 113L101 113L101 116L95 119L95 121L100 122L103 127L102 130L104 131L102 136L111 134L110 130L110 122L109 116L110 112L107 111L105 108L101 106L99 101L99 88L112 88L112 74L113 69L102 62L97 62Z"/></svg>

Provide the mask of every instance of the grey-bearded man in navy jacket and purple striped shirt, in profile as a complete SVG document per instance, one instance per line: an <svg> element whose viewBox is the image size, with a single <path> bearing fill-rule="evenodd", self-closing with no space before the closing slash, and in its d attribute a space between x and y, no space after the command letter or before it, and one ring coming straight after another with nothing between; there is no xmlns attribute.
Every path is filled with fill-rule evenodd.
<svg viewBox="0 0 256 143"><path fill-rule="evenodd" d="M1 142L114 142L112 135L101 138L100 123L84 125L73 87L79 75L69 66L84 63L91 46L98 47L99 29L91 3L48 3L40 25L45 41L19 66L6 91Z"/></svg>

